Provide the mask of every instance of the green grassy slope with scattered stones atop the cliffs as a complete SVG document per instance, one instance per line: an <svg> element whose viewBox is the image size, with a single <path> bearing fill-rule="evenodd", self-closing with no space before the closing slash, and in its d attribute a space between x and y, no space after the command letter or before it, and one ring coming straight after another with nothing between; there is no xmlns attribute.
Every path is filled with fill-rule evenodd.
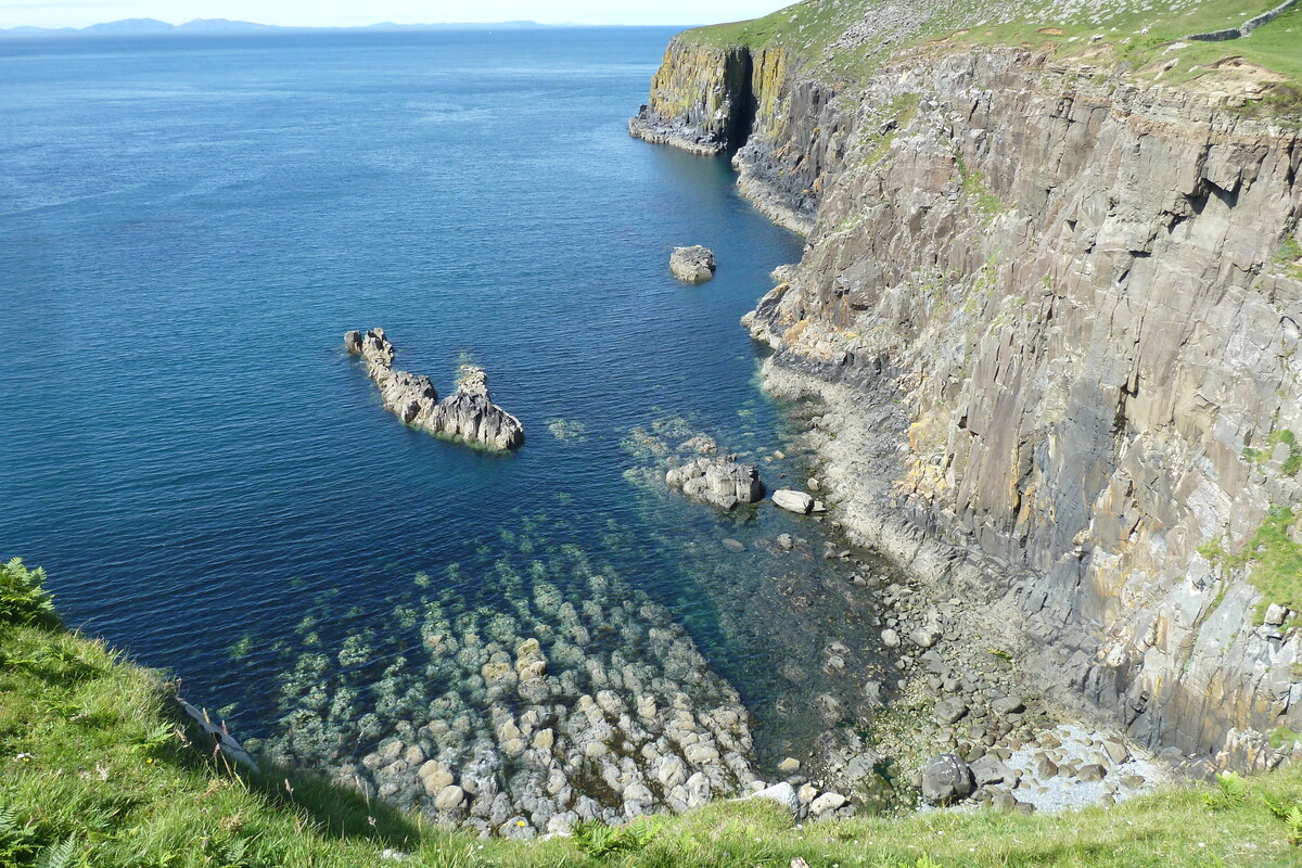
<svg viewBox="0 0 1302 868"><path fill-rule="evenodd" d="M1251 74L1266 85L1297 85L1302 82L1302 7L1238 39L1185 39L1238 27L1277 3L803 0L754 21L689 30L682 39L716 47L781 46L815 70L849 81L898 52L1001 44L1044 48L1064 61L1124 66L1137 77L1172 83ZM1170 61L1176 62L1168 69Z"/></svg>

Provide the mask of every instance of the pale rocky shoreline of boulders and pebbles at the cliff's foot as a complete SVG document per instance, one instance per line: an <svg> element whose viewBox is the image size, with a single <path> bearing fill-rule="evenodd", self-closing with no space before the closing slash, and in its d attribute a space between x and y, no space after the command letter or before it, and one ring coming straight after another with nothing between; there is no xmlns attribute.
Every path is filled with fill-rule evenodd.
<svg viewBox="0 0 1302 868"><path fill-rule="evenodd" d="M862 800L879 795L865 785L880 782L846 777L868 751L874 764L892 766L887 777L898 807L918 804L921 794L922 804L1030 812L1111 804L1176 776L1210 774L1206 763L1178 752L1157 756L1124 733L1082 724L1085 709L1043 692L1012 612L971 605L1000 599L993 576L1008 571L978 561L965 569L958 549L906 521L889 483L898 461L893 435L907 426L898 403L879 394L866 416L863 384L833 380L827 370L783 355L763 366L766 392L793 402L803 423L796 448L816 462L810 470L836 531L881 550L901 571L867 578L880 643L892 658L892 669L866 687L881 708L861 721L862 742L842 737L838 750L809 757L811 781ZM892 514L897 521L883 519ZM937 786L928 780L937 768L956 769L966 787Z"/></svg>

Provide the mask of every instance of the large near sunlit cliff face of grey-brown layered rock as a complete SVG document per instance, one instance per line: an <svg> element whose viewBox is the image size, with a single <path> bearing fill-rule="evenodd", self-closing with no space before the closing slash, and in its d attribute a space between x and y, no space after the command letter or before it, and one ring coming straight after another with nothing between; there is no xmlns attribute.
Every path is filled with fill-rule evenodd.
<svg viewBox="0 0 1302 868"><path fill-rule="evenodd" d="M793 66L742 186L818 220L745 321L775 389L827 402L841 521L1019 625L1059 699L1151 747L1275 761L1299 640L1259 625L1249 547L1266 521L1302 541L1298 133L1018 48L841 92Z"/></svg>

